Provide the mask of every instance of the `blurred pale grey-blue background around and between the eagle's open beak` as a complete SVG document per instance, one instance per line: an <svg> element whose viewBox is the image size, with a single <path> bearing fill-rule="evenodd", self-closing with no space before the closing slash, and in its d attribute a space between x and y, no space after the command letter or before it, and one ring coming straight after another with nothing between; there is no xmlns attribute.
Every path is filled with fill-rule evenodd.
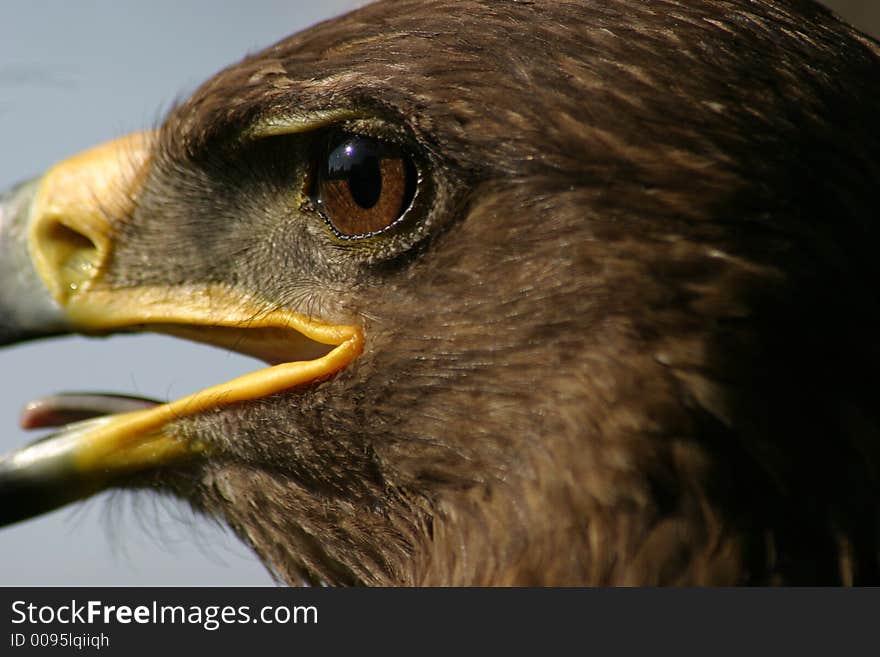
<svg viewBox="0 0 880 657"><path fill-rule="evenodd" d="M0 189L89 146L154 125L212 73L355 0L4 0ZM880 2L826 3L880 32ZM255 369L155 336L66 338L0 351L0 451L33 439L20 408L57 391L171 399ZM270 584L250 552L182 504L101 495L0 529L0 585Z"/></svg>

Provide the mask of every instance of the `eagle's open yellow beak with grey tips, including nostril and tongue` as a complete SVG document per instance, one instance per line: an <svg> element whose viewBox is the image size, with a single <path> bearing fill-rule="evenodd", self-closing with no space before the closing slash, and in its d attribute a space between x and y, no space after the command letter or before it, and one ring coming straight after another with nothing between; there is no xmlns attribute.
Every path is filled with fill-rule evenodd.
<svg viewBox="0 0 880 657"><path fill-rule="evenodd" d="M149 173L152 140L138 133L98 146L0 196L0 346L69 332L153 330L270 366L166 404L74 395L32 405L26 426L86 419L0 457L0 525L204 454L208 447L175 433L175 421L326 378L363 348L354 326L227 287L106 284L119 222L134 216Z"/></svg>

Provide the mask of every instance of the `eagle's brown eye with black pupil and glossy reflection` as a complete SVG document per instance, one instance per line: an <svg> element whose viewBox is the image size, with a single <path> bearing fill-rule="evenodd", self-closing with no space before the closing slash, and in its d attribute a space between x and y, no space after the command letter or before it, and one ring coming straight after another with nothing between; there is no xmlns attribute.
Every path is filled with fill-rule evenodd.
<svg viewBox="0 0 880 657"><path fill-rule="evenodd" d="M343 134L319 156L314 200L338 237L370 237L396 224L412 203L412 160L387 142Z"/></svg>

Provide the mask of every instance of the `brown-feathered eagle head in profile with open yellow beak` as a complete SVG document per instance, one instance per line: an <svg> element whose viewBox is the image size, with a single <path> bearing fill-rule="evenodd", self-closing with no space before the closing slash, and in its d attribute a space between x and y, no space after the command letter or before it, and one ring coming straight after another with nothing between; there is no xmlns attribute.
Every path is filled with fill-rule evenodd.
<svg viewBox="0 0 880 657"><path fill-rule="evenodd" d="M393 0L244 59L3 197L0 342L265 367L34 403L0 520L143 487L292 584L876 583L878 55L809 0Z"/></svg>

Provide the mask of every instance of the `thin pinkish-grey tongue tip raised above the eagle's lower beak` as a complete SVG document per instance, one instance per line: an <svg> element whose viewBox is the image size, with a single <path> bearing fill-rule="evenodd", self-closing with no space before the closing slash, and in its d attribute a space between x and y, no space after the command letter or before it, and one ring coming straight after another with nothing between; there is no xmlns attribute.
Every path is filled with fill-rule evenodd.
<svg viewBox="0 0 880 657"><path fill-rule="evenodd" d="M100 415L128 413L156 406L159 402L144 397L105 393L61 393L29 402L21 412L22 429L59 427Z"/></svg>

